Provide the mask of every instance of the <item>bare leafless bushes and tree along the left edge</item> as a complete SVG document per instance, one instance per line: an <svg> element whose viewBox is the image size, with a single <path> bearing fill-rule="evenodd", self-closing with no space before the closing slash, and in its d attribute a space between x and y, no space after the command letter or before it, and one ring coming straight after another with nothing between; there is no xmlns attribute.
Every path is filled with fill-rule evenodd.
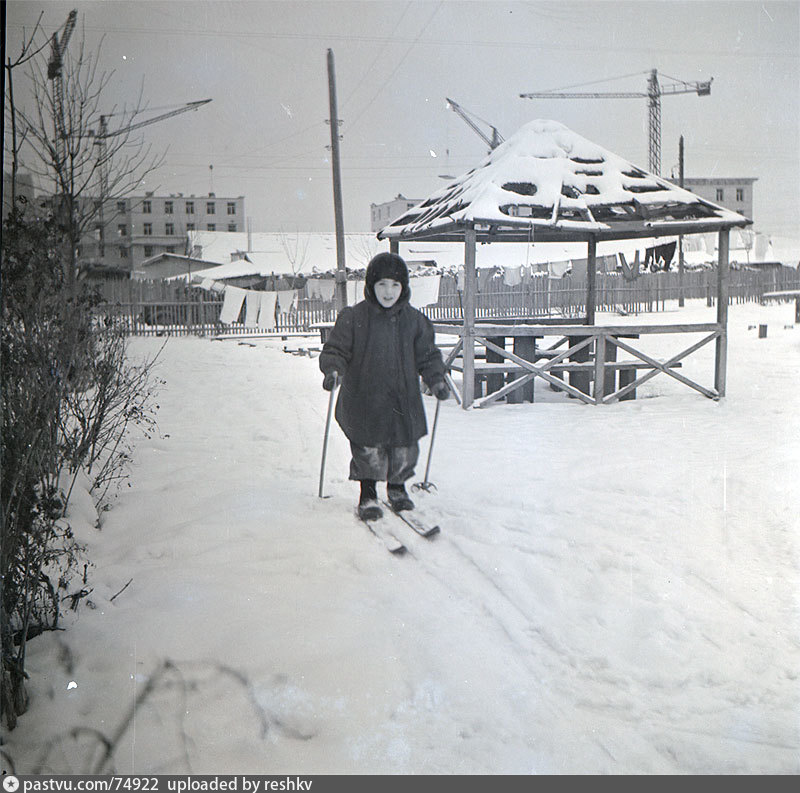
<svg viewBox="0 0 800 793"><path fill-rule="evenodd" d="M125 475L131 429L151 432L157 408L154 362L131 365L121 329L96 316L99 296L81 278L77 248L103 208L159 160L131 135L141 93L127 108L105 107L111 74L99 50L88 52L83 37L66 50L74 23L71 13L49 52L37 24L4 64L12 204L22 156L46 191L35 211L12 206L3 220L0 718L9 728L27 705L27 641L58 626L63 602L75 608L90 591L84 549L64 517L76 477L88 473L95 499L106 501ZM20 66L27 104L10 90Z"/></svg>

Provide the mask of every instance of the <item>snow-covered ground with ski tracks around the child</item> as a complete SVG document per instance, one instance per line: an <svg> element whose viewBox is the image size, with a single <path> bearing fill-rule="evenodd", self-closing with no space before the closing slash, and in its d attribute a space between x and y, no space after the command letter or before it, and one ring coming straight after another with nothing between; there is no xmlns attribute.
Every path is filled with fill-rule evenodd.
<svg viewBox="0 0 800 793"><path fill-rule="evenodd" d="M664 375L604 407L538 381L444 403L417 494L442 532L405 557L354 518L335 424L318 497L328 395L283 351L316 339L169 339L131 487L100 530L73 502L94 608L30 643L3 749L22 773L91 770L98 733L120 773L800 773L793 316L731 306L718 403ZM682 372L713 385L713 344Z"/></svg>

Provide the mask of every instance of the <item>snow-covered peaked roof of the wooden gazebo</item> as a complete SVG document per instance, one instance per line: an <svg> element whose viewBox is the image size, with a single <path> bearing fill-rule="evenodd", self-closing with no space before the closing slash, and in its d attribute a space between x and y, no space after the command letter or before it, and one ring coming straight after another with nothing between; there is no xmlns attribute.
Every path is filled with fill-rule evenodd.
<svg viewBox="0 0 800 793"><path fill-rule="evenodd" d="M557 121L524 125L380 239L568 242L692 234L751 221L636 167Z"/></svg>

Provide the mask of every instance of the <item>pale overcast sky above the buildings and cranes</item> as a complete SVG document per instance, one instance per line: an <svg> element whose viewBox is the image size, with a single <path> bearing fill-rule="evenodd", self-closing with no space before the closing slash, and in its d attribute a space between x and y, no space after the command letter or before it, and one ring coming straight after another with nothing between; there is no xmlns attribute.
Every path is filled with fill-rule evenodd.
<svg viewBox="0 0 800 793"><path fill-rule="evenodd" d="M213 100L144 130L169 151L143 189L244 195L257 231L334 229L330 48L347 231L369 230L371 203L424 198L485 155L445 97L504 137L555 119L646 169L645 98L519 94L644 92L655 68L662 85L713 78L710 96L662 98L662 174L682 134L687 177L757 177L755 228L800 249L799 2L12 0L9 53L40 11L50 33L71 8L70 46L103 39L109 109L142 81L152 108Z"/></svg>

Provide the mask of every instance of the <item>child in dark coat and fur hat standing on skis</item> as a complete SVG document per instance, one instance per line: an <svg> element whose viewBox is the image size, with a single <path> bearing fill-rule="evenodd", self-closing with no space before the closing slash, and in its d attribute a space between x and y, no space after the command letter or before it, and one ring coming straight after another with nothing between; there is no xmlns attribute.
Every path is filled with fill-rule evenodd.
<svg viewBox="0 0 800 793"><path fill-rule="evenodd" d="M364 520L383 514L378 481L387 483L395 512L414 508L404 483L428 432L419 377L437 399L450 395L433 325L409 304L410 295L405 261L379 253L367 267L365 299L339 312L319 357L322 387L341 382L336 421L350 441L350 479L361 483Z"/></svg>

